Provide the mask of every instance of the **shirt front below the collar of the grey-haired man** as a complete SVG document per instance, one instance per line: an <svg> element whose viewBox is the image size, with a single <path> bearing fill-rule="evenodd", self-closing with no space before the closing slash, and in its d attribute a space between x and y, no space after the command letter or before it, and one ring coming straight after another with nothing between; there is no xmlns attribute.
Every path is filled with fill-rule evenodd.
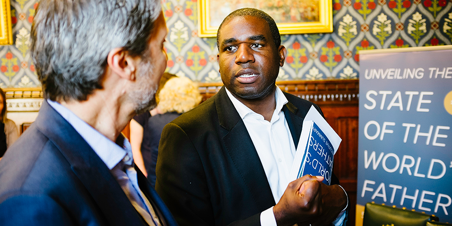
<svg viewBox="0 0 452 226"><path fill-rule="evenodd" d="M128 164L127 164L128 163ZM112 170L132 206L138 211L149 226L160 226L160 221L151 204L138 187L137 171L131 165L132 158L125 156Z"/></svg>

